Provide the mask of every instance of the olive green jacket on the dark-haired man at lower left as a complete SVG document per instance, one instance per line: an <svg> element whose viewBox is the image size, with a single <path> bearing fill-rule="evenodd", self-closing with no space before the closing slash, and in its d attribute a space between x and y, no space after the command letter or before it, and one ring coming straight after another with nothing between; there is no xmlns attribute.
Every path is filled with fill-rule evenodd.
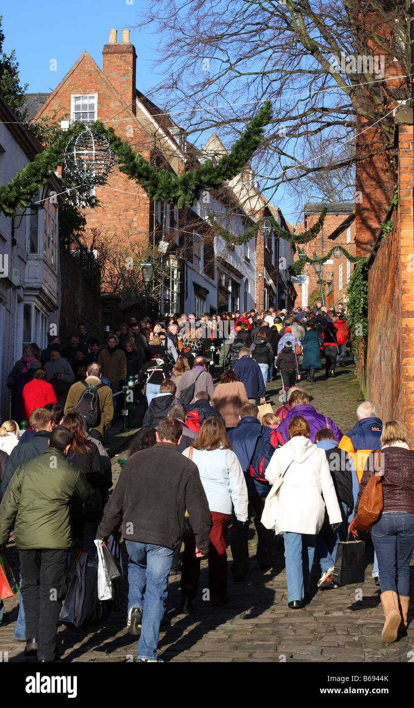
<svg viewBox="0 0 414 708"><path fill-rule="evenodd" d="M29 443L26 443L28 445ZM55 447L21 464L0 504L0 544L16 520L19 550L71 547L69 501L86 501L93 489L80 469Z"/></svg>

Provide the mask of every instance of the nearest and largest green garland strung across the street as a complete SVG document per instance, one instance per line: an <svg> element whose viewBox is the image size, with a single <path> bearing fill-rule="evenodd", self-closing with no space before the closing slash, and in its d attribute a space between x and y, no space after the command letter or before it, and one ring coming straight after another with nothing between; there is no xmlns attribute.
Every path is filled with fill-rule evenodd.
<svg viewBox="0 0 414 708"><path fill-rule="evenodd" d="M94 135L105 137L115 154L121 172L138 182L154 201L166 201L178 208L194 205L202 190L214 189L240 173L262 141L265 126L272 118L270 101L266 101L243 130L228 155L223 155L216 165L207 160L198 169L176 175L166 169L156 169L129 142L115 135L113 127L105 128L96 121L88 128ZM85 130L84 123L76 123L62 132L57 140L35 156L33 162L19 170L7 185L0 186L0 210L12 216L16 209L23 209L35 198L38 191L64 162L67 144Z"/></svg>

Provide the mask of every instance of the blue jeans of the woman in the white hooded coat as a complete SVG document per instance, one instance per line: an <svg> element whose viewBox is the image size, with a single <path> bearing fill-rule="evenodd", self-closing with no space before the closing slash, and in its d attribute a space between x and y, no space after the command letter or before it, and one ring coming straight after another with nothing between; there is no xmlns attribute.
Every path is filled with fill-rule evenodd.
<svg viewBox="0 0 414 708"><path fill-rule="evenodd" d="M311 586L311 568L314 562L316 537L293 533L283 535L286 559L287 601L303 600Z"/></svg>

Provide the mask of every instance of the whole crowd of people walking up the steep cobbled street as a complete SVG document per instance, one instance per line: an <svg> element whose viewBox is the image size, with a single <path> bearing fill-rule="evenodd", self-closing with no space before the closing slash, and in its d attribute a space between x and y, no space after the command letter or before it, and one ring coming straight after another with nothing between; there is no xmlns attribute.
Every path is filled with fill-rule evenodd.
<svg viewBox="0 0 414 708"><path fill-rule="evenodd" d="M314 561L321 569L318 590L335 589L336 549L349 524L356 532L352 518L373 472L372 450L384 450L384 511L372 530L383 640L405 632L414 549L408 432L396 421L383 428L364 401L355 428L343 435L329 411L316 411L296 385L305 371L314 381L321 353L326 377L333 376L346 341L343 304L326 311L320 302L315 312L270 309L206 314L199 321L176 314L154 324L132 319L102 341L88 338L81 323L66 347L57 337L42 352L26 347L9 377L14 416L0 427L0 550L14 528L21 566L15 635L25 640L25 654L57 659L68 552L86 547L92 554L94 539L110 535L126 542L127 631L139 636L139 661L161 661L157 645L171 573L180 573L185 614L194 611L203 557L212 607L229 602L227 532L231 526L230 571L243 582L253 517L263 573L273 566L275 531L283 536L290 609L311 598ZM224 372L214 386L217 356ZM282 406L263 413L266 383L277 370ZM110 493L102 440L128 377L143 387L146 410ZM28 416L24 435L16 423L20 410ZM273 493L277 510L264 525ZM50 587L57 589L53 601ZM0 605L0 622L3 612Z"/></svg>

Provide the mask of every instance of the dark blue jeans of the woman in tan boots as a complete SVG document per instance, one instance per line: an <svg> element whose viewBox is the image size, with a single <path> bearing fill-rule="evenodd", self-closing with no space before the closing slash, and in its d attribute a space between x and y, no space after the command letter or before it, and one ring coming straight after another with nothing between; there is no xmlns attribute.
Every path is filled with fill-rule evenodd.
<svg viewBox="0 0 414 708"><path fill-rule="evenodd" d="M393 590L410 595L410 558L414 548L414 514L407 511L383 513L371 531L378 557L381 593Z"/></svg>

